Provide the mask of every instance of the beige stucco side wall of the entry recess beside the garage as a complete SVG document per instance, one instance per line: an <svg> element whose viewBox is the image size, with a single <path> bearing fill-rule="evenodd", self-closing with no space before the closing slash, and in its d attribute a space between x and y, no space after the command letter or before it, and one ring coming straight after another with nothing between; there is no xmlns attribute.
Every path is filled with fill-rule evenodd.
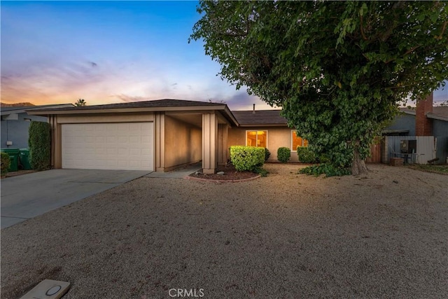
<svg viewBox="0 0 448 299"><path fill-rule="evenodd" d="M202 129L165 116L165 169L202 160Z"/></svg>

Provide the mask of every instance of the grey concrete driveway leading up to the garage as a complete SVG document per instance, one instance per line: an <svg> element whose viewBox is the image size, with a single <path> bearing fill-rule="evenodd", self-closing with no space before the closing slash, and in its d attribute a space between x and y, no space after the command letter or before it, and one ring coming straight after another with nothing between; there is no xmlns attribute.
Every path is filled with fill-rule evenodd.
<svg viewBox="0 0 448 299"><path fill-rule="evenodd" d="M1 228L132 181L150 172L51 169L1 180Z"/></svg>

